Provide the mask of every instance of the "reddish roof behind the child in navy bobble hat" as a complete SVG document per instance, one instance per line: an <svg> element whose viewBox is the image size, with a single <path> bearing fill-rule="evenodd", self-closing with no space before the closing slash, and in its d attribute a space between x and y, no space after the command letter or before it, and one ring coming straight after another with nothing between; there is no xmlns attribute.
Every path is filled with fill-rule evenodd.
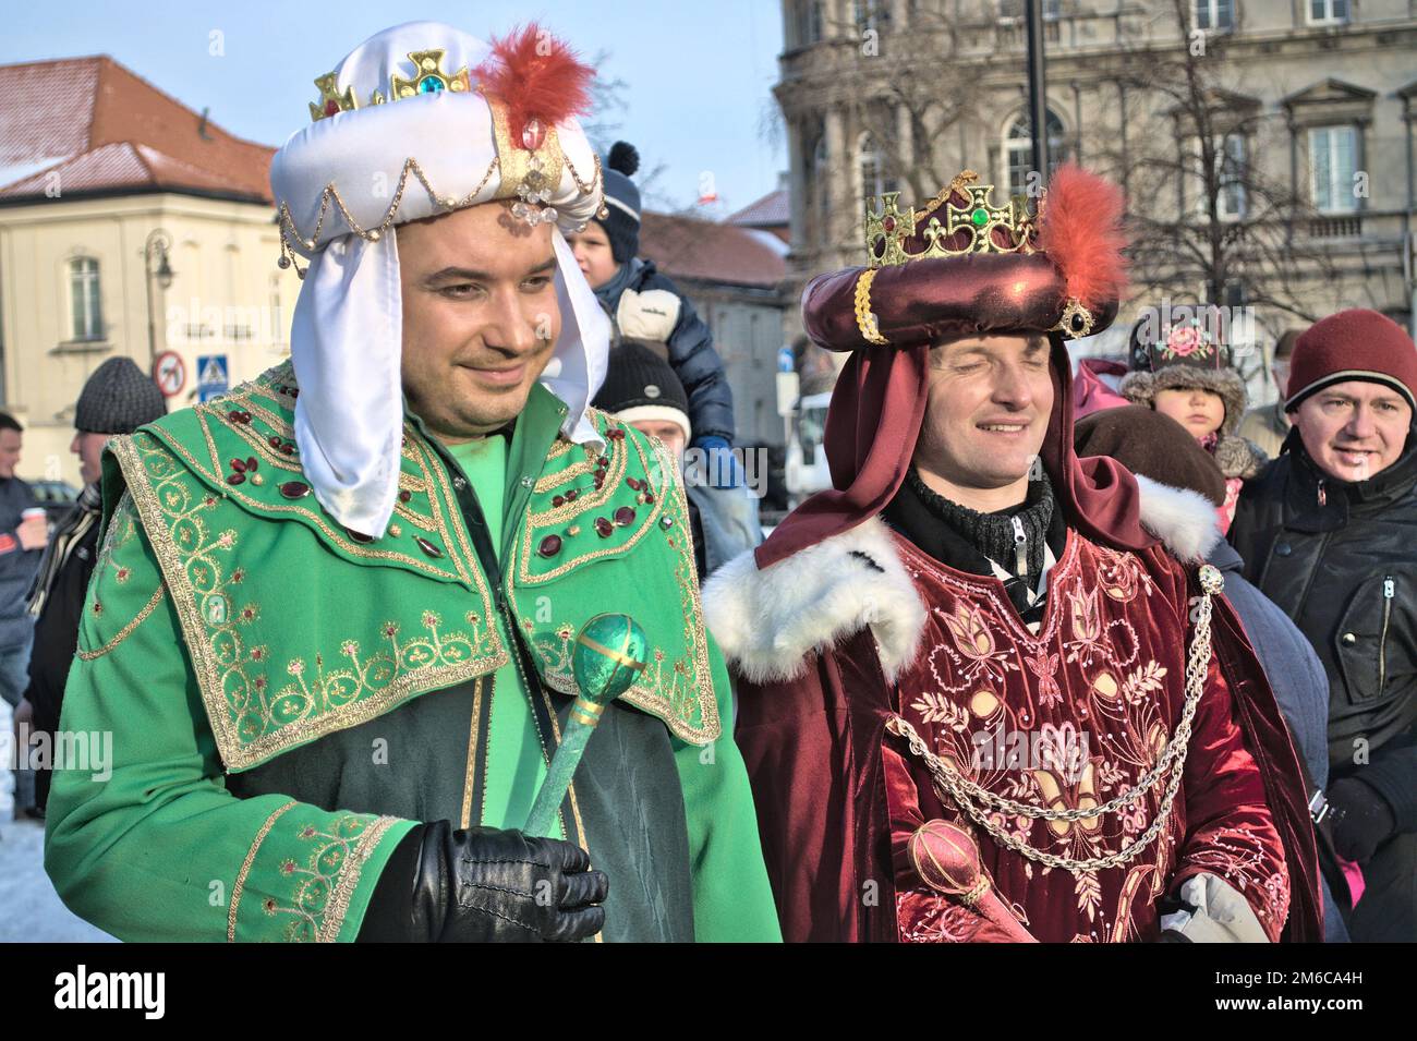
<svg viewBox="0 0 1417 1041"><path fill-rule="evenodd" d="M640 217L639 254L670 278L772 289L786 276L788 246L771 232L648 211Z"/></svg>

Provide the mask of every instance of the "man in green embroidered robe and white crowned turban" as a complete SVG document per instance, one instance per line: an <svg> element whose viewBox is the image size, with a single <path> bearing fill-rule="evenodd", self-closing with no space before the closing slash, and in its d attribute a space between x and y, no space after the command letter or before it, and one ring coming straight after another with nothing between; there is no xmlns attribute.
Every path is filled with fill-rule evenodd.
<svg viewBox="0 0 1417 1041"><path fill-rule="evenodd" d="M589 71L387 30L272 166L292 358L109 442L45 868L129 940L775 940L677 467L588 408ZM551 101L560 98L560 101ZM621 612L650 647L519 829Z"/></svg>

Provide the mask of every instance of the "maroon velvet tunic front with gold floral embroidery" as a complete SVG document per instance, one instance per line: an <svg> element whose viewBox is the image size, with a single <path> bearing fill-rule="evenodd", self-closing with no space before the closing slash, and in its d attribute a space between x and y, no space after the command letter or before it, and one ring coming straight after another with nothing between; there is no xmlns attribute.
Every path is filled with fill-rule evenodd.
<svg viewBox="0 0 1417 1041"><path fill-rule="evenodd" d="M1095 809L1134 787L1179 719L1189 637L1178 639L1178 612L1169 605L1183 602L1185 586L1176 582L1172 596L1162 598L1138 555L1095 547L1073 533L1049 576L1047 609L1034 635L996 585L941 568L903 540L897 544L934 605L922 652L900 677L898 704L937 755L998 796L1053 810ZM1022 739L1006 745L1010 736ZM993 755L978 755L979 742ZM913 775L927 819L942 813L959 820L922 768ZM1036 848L1087 860L1115 853L1145 831L1161 795L1153 787L1107 816L1030 820L996 812L992 821ZM1068 875L985 836L983 865L1000 897L1050 923L1049 939L1138 939L1156 928L1155 899L1176 874L1185 843L1187 865L1227 878L1253 905L1268 908L1257 911L1261 921L1268 915L1282 925L1282 914L1275 915L1275 908L1288 906L1282 860L1275 871L1274 855L1246 826L1204 837L1197 847L1186 830L1185 792L1178 807L1153 844L1128 864ZM1193 850L1197 857L1189 855ZM1071 894L1071 922L1058 915L1060 885ZM913 939L949 939L938 915L917 916L903 931Z"/></svg>

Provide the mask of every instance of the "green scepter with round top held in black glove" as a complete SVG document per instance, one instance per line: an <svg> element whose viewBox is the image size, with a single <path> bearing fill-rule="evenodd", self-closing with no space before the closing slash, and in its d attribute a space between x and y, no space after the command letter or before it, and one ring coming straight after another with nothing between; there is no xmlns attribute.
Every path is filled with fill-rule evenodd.
<svg viewBox="0 0 1417 1041"><path fill-rule="evenodd" d="M601 721L605 705L618 698L645 671L649 640L629 615L597 615L584 626L571 647L571 676L580 691L571 717L561 734L561 745L551 756L551 769L537 792L527 817L529 836L551 836L555 814L571 787L575 768L581 765L585 742Z"/></svg>

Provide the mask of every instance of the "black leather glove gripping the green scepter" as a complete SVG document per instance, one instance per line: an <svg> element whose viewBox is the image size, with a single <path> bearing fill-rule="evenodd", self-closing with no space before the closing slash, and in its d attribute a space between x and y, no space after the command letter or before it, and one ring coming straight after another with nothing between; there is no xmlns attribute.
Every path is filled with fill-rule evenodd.
<svg viewBox="0 0 1417 1041"><path fill-rule="evenodd" d="M605 925L609 891L585 850L495 827L422 824L370 897L361 942L574 942Z"/></svg>

